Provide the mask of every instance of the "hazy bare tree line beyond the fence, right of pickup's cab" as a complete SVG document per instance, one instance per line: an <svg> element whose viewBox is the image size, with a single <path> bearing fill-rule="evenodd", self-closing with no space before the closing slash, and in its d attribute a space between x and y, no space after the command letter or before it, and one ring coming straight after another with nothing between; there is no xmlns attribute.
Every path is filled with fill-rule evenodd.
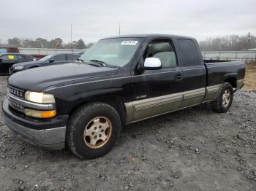
<svg viewBox="0 0 256 191"><path fill-rule="evenodd" d="M238 51L256 48L256 36L253 35L230 35L223 37L208 38L200 41L202 51Z"/></svg>

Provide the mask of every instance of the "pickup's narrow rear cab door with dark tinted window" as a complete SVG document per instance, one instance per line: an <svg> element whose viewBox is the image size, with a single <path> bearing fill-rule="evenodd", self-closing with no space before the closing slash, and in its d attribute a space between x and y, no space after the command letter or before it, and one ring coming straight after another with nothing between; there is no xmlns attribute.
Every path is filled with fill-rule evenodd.
<svg viewBox="0 0 256 191"><path fill-rule="evenodd" d="M194 39L177 39L182 61L184 99L181 108L200 104L206 94L206 67Z"/></svg>

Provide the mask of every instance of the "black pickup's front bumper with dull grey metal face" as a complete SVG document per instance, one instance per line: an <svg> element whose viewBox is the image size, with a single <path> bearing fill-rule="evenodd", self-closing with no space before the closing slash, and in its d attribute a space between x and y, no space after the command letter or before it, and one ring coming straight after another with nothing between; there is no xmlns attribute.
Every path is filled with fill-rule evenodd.
<svg viewBox="0 0 256 191"><path fill-rule="evenodd" d="M4 99L2 107L5 124L23 140L46 149L63 149L65 147L66 125L63 124L67 124L67 116L62 117L63 122L59 120L58 122L55 120L46 122L45 129L43 129L43 122L38 122L37 128L37 122L30 122L12 114L7 98Z"/></svg>

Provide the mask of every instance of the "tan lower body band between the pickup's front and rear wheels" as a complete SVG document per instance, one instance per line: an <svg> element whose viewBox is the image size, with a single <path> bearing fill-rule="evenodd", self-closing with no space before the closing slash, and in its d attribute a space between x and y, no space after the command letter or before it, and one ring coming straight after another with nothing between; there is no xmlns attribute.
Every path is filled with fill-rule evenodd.
<svg viewBox="0 0 256 191"><path fill-rule="evenodd" d="M202 102L212 101L219 95L221 87L222 85L213 85L206 88L125 103L127 124L184 109L189 106L195 106Z"/></svg>

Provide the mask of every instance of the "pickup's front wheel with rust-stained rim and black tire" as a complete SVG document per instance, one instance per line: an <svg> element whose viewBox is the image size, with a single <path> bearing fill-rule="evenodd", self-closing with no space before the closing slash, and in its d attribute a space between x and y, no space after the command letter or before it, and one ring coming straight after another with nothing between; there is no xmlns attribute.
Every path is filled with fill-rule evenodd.
<svg viewBox="0 0 256 191"><path fill-rule="evenodd" d="M93 159L110 152L120 133L121 120L116 109L101 102L86 104L69 119L67 146L81 159Z"/></svg>

